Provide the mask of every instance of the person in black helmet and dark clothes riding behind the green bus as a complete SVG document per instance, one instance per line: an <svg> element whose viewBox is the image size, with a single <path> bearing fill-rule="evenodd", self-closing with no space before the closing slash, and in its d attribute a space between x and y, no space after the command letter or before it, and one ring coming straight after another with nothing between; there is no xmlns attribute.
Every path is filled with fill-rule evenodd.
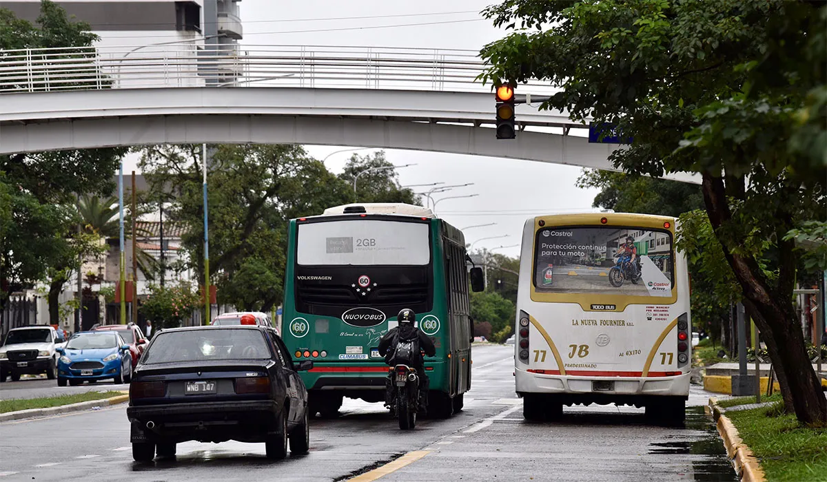
<svg viewBox="0 0 827 482"><path fill-rule="evenodd" d="M414 327L414 320L416 314L414 310L403 308L399 311L396 319L399 321L399 326L391 328L379 341L379 354L385 357L385 363L394 366L399 363L408 365L417 370L419 375L419 410L425 411L428 406L428 375L425 374L424 364L425 360L422 356L422 351L427 356L434 356L437 354L437 349L433 346L433 341L428 338L425 333L418 327ZM394 360L396 347L399 341L418 341L419 350L414 354L413 360ZM385 379L385 404L390 406L393 399L393 379L392 374L388 373L388 378Z"/></svg>

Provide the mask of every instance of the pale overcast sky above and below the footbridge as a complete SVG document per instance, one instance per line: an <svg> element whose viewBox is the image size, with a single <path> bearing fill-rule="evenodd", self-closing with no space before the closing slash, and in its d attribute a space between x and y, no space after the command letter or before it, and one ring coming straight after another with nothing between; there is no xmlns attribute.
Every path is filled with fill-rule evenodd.
<svg viewBox="0 0 827 482"><path fill-rule="evenodd" d="M479 50L504 32L495 29L478 12L489 0L452 0L437 2L389 2L387 0L303 0L273 2L243 0L239 3L244 23L242 45L347 45L376 47L424 47ZM437 14L437 15L421 15ZM351 18L342 17L380 17ZM389 16L389 17L384 17ZM392 16L392 17L390 17ZM296 20L301 19L301 21ZM332 20L308 20L332 19ZM289 20L289 21L285 21ZM432 25L399 26L403 24ZM450 22L450 23L447 23ZM394 26L375 28L376 26ZM361 30L332 30L368 27ZM374 28L370 28L374 27ZM310 31L304 33L284 33ZM280 32L280 33L275 33ZM494 116L494 102L491 103ZM491 136L494 132L491 131ZM505 142L505 141L504 141ZM347 146L308 146L318 159ZM372 150L358 150L366 154ZM331 155L326 165L341 172L351 152ZM480 241L475 248L487 249L519 243L523 223L528 217L544 212L590 210L594 189L578 189L574 183L580 168L540 162L504 160L472 155L442 154L423 151L386 150L394 165L416 164L399 169L401 184L474 183L435 198L478 194L474 198L447 199L438 203L437 214L456 227L464 228L496 222L495 226L476 227L465 231L466 240L483 237L508 237ZM429 188L414 188L414 191ZM317 214L315 212L308 214ZM507 255L519 255L519 247L499 249Z"/></svg>

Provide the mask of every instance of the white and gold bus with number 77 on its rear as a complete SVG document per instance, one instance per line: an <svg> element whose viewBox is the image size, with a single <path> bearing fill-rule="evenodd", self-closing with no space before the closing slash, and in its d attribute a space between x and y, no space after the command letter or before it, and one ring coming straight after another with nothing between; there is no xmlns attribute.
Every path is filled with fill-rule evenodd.
<svg viewBox="0 0 827 482"><path fill-rule="evenodd" d="M690 287L674 241L673 217L597 212L525 223L514 343L524 418L617 403L683 422Z"/></svg>

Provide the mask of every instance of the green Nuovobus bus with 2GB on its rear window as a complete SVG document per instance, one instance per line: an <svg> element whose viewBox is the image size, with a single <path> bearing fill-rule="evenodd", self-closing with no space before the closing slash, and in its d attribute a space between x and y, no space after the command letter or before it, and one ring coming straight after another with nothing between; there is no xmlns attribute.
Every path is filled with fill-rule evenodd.
<svg viewBox="0 0 827 482"><path fill-rule="evenodd" d="M416 313L437 355L426 357L428 414L461 410L471 388L473 330L465 238L430 209L348 204L289 222L282 338L298 360L310 413L335 417L342 398L385 400L380 337L402 308ZM473 268L474 289L482 270Z"/></svg>

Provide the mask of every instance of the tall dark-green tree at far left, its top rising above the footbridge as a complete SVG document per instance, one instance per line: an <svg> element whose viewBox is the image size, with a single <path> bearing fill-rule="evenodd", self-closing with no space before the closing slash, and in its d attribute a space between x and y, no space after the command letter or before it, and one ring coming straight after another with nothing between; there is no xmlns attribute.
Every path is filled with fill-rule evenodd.
<svg viewBox="0 0 827 482"><path fill-rule="evenodd" d="M37 25L0 8L0 50L88 46L98 39L89 30L88 23L70 21L48 0L41 2ZM65 55L76 56L70 50ZM13 213L0 222L0 312L13 291L44 279L56 284L77 269L78 254L88 246L81 246L80 238L70 241L77 237L75 193L111 192L110 179L125 152L116 148L0 155L0 210Z"/></svg>

